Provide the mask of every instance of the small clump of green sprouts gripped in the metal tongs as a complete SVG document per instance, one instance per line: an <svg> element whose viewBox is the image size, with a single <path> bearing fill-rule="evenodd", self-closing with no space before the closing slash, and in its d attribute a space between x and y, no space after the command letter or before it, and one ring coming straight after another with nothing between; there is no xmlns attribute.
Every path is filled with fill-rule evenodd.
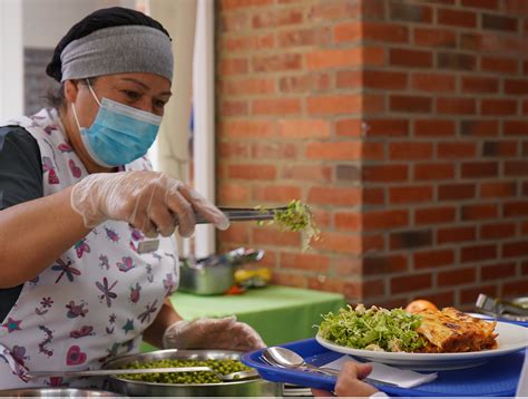
<svg viewBox="0 0 528 399"><path fill-rule="evenodd" d="M267 212L267 208L262 206L257 206L256 210ZM301 232L303 250L310 247L312 240L319 240L321 233L313 220L310 206L299 199L291 201L285 210L274 211L273 220L261 222L261 224L264 223L276 225L282 231Z"/></svg>

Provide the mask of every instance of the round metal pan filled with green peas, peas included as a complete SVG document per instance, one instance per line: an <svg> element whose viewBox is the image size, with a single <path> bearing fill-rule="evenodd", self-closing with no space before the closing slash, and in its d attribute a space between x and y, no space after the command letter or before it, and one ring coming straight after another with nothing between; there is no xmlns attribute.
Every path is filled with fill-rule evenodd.
<svg viewBox="0 0 528 399"><path fill-rule="evenodd" d="M239 361L242 352L227 350L166 349L130 354L107 362L108 369L143 369L166 367L208 367L221 374L250 369ZM258 396L281 397L282 386L258 377L221 381L207 371L119 374L109 378L113 391L127 396Z"/></svg>

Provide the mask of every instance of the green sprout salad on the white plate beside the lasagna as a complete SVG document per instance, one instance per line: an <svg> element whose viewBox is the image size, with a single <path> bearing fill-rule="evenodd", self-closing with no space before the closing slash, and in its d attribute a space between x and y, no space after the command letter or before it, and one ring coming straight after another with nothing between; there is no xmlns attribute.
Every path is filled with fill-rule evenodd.
<svg viewBox="0 0 528 399"><path fill-rule="evenodd" d="M415 352L426 340L415 331L421 318L403 309L355 309L346 305L338 314L323 315L319 334L342 347L384 352Z"/></svg>

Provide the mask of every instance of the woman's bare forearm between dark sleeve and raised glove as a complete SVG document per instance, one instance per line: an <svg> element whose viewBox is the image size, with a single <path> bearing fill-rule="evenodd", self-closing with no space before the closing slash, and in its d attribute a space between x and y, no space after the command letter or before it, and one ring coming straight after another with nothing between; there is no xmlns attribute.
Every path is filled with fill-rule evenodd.
<svg viewBox="0 0 528 399"><path fill-rule="evenodd" d="M0 211L0 289L31 280L90 232L71 208L70 192Z"/></svg>

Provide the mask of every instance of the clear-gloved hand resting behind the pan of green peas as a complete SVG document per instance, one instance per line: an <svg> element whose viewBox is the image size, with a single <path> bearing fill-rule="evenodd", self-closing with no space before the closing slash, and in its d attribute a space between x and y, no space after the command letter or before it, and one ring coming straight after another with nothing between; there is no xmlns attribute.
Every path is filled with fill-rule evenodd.
<svg viewBox="0 0 528 399"><path fill-rule="evenodd" d="M247 352L265 348L261 335L232 315L223 319L180 320L163 334L164 348L227 349Z"/></svg>

